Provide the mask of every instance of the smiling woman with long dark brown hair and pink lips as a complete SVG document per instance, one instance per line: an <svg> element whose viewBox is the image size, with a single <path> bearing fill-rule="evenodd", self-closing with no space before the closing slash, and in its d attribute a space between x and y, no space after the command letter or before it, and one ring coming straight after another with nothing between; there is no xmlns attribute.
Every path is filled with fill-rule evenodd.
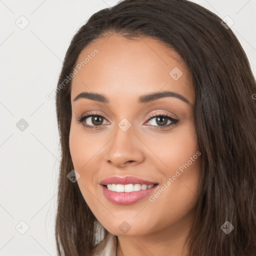
<svg viewBox="0 0 256 256"><path fill-rule="evenodd" d="M186 0L123 0L74 35L56 88L59 255L256 254L256 84Z"/></svg>

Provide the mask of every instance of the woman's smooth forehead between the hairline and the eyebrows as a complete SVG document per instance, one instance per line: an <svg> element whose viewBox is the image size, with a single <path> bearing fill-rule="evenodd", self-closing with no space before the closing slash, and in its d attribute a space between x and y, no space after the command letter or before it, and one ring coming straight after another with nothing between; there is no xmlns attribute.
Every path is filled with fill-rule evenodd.
<svg viewBox="0 0 256 256"><path fill-rule="evenodd" d="M71 99L83 91L125 100L171 90L194 100L191 75L181 57L152 38L113 34L96 39L80 52L76 70Z"/></svg>

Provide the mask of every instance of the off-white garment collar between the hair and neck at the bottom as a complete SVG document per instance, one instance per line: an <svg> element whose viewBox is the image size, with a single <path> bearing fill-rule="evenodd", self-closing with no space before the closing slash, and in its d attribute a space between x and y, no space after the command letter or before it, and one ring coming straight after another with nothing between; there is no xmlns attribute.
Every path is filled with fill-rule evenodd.
<svg viewBox="0 0 256 256"><path fill-rule="evenodd" d="M116 256L117 236L108 233L93 249L90 256Z"/></svg>

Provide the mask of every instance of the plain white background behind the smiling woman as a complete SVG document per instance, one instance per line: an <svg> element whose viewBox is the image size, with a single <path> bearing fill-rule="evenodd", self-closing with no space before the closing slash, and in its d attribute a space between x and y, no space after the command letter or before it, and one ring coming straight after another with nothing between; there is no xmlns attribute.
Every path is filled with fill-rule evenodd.
<svg viewBox="0 0 256 256"><path fill-rule="evenodd" d="M193 0L231 26L256 73L256 1ZM75 31L117 0L0 0L0 256L56 255L54 217L60 160L55 89ZM16 25L23 15L24 29ZM20 21L19 21L20 22ZM22 22L23 23L23 22ZM24 23L23 23L24 24ZM16 123L29 126L20 131ZM29 229L24 231L25 221Z"/></svg>

